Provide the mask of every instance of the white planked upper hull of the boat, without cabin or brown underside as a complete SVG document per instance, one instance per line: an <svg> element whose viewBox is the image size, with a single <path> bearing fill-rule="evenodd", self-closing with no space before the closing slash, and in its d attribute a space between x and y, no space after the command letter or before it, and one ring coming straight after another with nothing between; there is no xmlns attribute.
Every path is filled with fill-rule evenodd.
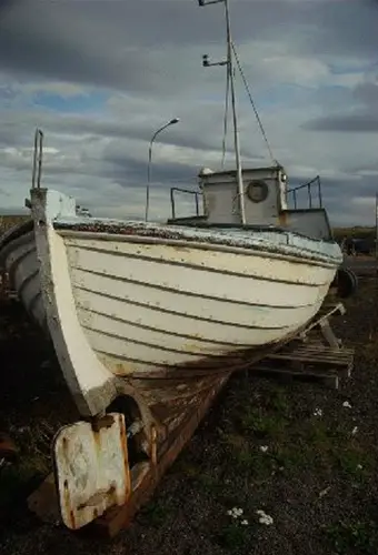
<svg viewBox="0 0 378 555"><path fill-rule="evenodd" d="M151 404L186 397L262 356L318 312L342 261L332 241L269 226L82 218L47 189L31 190L31 211L0 255L83 415L135 383ZM147 392L151 379L160 385Z"/></svg>

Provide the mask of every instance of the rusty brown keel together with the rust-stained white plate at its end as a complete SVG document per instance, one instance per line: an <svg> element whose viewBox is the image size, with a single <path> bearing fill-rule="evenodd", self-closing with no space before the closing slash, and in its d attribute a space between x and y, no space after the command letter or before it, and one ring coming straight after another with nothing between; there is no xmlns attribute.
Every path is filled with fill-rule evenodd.
<svg viewBox="0 0 378 555"><path fill-rule="evenodd" d="M146 430L141 421L135 421L127 428L121 413L60 428L54 438L53 462L64 525L74 531L92 523L91 527L111 537L126 527L191 438L228 377L229 374L219 376L203 392L201 404L188 410L162 444L158 444L153 425ZM148 455L140 451L142 456L132 462L130 440L138 434L149 438Z"/></svg>

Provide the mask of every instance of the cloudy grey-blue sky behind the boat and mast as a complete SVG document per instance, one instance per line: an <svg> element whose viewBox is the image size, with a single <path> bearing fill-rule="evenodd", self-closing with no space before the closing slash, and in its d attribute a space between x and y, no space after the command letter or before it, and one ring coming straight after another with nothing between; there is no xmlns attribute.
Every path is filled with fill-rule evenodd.
<svg viewBox="0 0 378 555"><path fill-rule="evenodd" d="M374 224L378 2L230 0L230 8L240 61L291 185L320 174L334 224ZM225 56L221 4L2 0L0 212L21 211L40 127L46 186L98 215L142 216L149 140L180 118L153 147L150 214L168 216L170 186L196 186L201 167L220 167L225 69L203 69L202 53ZM269 163L240 79L237 90L242 160ZM187 213L182 203L179 215Z"/></svg>

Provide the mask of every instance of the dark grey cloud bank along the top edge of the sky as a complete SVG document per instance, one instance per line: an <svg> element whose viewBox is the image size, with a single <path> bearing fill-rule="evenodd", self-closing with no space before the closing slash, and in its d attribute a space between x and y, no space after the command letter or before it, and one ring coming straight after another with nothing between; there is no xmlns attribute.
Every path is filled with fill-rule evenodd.
<svg viewBox="0 0 378 555"><path fill-rule="evenodd" d="M237 43L285 40L288 56L375 57L378 10L369 2L340 3L235 1L233 36ZM223 51L222 17L221 7L200 9L196 0L19 0L0 20L0 65L20 74L175 94L191 87L203 49L215 57ZM211 80L218 75L212 72Z"/></svg>

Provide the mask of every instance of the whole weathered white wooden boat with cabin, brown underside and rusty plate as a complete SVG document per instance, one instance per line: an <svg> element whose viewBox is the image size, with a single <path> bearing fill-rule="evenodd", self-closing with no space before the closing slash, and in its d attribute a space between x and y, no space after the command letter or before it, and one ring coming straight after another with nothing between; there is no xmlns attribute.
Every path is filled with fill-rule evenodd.
<svg viewBox="0 0 378 555"><path fill-rule="evenodd" d="M230 58L229 70L232 82ZM237 157L235 171L201 174L202 214L115 221L40 186L41 138L31 220L1 239L0 264L52 341L81 415L97 423L90 448L88 423L56 444L62 518L77 528L113 504L139 506L143 476L163 472L230 374L315 316L342 254L322 208L288 209L280 165L242 170ZM127 440L121 421L102 418L115 406ZM116 438L99 440L103 426Z"/></svg>

